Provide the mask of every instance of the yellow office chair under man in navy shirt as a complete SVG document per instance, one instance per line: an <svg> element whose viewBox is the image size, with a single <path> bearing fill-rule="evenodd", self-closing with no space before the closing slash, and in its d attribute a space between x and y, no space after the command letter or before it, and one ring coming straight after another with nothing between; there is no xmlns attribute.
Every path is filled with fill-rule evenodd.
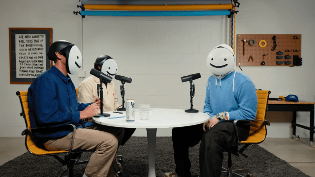
<svg viewBox="0 0 315 177"><path fill-rule="evenodd" d="M28 149L28 151L31 152L33 155L38 155L38 156L49 155L49 156L55 157L65 167L65 171L63 172L63 174L69 169L69 177L73 177L74 165L85 164L89 162L89 160L79 162L79 158L81 157L81 154L83 151L72 150L73 136L72 136L70 150L68 151L67 150L58 150L58 151L47 150L44 146L42 146L40 139L32 135L32 130L50 128L50 127L32 128L31 122L30 122L30 116L29 116L28 92L17 91L16 95L19 96L21 107L22 107L22 113L20 113L20 116L23 116L25 120L25 124L26 124L26 129L22 132L22 135L26 136L25 146ZM72 131L75 131L75 125L73 124L67 124L64 126L70 126L72 128ZM57 156L57 154L65 154L64 159ZM61 176L63 176L63 174Z"/></svg>

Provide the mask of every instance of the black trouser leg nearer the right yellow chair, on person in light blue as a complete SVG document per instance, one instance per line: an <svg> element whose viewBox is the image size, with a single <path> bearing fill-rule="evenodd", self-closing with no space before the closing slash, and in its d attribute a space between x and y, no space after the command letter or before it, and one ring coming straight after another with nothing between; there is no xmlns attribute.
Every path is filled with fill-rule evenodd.
<svg viewBox="0 0 315 177"><path fill-rule="evenodd" d="M240 128L240 127L239 127ZM242 127L241 140L246 140L249 126ZM202 135L199 148L200 177L220 177L223 152L237 142L233 122L219 122Z"/></svg>

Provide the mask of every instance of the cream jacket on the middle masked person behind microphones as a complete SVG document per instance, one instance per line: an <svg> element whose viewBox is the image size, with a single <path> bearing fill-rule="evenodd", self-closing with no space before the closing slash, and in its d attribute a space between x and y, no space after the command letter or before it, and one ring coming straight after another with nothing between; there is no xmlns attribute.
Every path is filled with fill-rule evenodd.
<svg viewBox="0 0 315 177"><path fill-rule="evenodd" d="M90 76L82 81L78 88L78 102L95 102L97 97L97 84L99 83L99 78L95 76ZM107 83L107 88L103 83L103 103L104 113L108 111L114 111L120 106L120 104L118 103L118 98L116 96L116 86L114 82Z"/></svg>

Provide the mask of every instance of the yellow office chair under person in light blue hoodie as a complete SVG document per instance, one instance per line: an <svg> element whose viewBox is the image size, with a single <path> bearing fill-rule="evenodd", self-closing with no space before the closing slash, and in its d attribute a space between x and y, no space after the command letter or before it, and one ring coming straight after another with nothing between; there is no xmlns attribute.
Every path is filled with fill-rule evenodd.
<svg viewBox="0 0 315 177"><path fill-rule="evenodd" d="M233 125L236 130L236 136L239 137L239 126L246 126L250 124L250 134L247 140L245 141L238 141L236 145L234 145L232 148L227 149L228 151L228 160L227 160L227 169L222 168L221 175L227 176L227 177L243 177L237 173L240 172L247 172L246 177L252 177L252 175L249 174L248 169L241 169L241 170L232 170L232 160L231 160L231 154L234 154L236 156L239 156L239 154L242 154L246 158L248 157L243 153L243 151L250 145L253 144L259 144L262 143L267 135L267 129L266 125L270 125L270 122L265 120L266 118L266 111L268 109L268 98L270 91L268 90L256 90L257 98L258 98L258 106L257 106L257 114L255 120L234 120ZM238 146L243 146L238 150Z"/></svg>

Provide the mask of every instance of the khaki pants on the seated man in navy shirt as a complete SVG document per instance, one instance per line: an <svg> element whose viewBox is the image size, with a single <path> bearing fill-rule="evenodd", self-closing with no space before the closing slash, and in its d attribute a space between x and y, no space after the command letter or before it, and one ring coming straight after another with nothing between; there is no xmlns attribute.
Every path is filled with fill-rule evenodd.
<svg viewBox="0 0 315 177"><path fill-rule="evenodd" d="M118 145L124 136L124 128L94 125L74 132L73 150L94 150L85 175L88 177L106 177L116 155ZM67 136L48 140L44 143L47 150L69 150L72 133Z"/></svg>

